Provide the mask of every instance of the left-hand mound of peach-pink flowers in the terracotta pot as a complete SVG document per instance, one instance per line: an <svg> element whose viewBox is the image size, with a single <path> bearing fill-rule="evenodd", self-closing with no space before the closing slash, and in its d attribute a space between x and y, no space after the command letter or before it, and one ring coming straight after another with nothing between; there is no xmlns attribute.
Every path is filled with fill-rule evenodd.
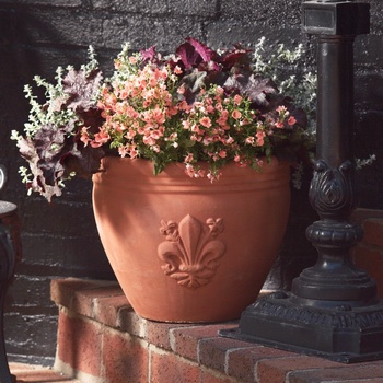
<svg viewBox="0 0 383 383"><path fill-rule="evenodd" d="M83 129L81 140L92 147L113 142L121 156L132 159L142 154L143 147L159 153L162 141L175 143L176 131L167 135L169 121L179 113L169 90L172 81L166 68L147 65L126 81L114 81L112 90L104 86L97 107L105 123L93 137Z"/></svg>

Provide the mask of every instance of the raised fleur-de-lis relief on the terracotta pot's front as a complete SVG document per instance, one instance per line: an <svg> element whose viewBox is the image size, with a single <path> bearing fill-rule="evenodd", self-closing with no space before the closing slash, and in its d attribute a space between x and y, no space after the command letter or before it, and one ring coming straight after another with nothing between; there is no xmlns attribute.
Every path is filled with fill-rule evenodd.
<svg viewBox="0 0 383 383"><path fill-rule="evenodd" d="M216 237L224 230L221 218L209 218L206 224L190 214L179 223L161 221L160 233L166 241L158 247L163 260L162 269L178 285L198 288L207 285L216 275L218 259L225 252L223 242Z"/></svg>

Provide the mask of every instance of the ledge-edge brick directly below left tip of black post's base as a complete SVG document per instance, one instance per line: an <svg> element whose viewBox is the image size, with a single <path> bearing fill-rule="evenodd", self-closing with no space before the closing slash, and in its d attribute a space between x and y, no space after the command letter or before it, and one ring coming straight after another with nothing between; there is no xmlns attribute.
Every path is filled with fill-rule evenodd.
<svg viewBox="0 0 383 383"><path fill-rule="evenodd" d="M252 347L254 345L230 338L201 339L198 344L198 358L201 364L225 372L228 351Z"/></svg>

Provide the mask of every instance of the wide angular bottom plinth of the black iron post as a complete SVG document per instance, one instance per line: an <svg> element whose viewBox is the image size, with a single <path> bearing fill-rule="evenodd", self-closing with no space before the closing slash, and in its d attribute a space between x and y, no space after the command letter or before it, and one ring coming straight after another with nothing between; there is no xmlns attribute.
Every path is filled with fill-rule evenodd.
<svg viewBox="0 0 383 383"><path fill-rule="evenodd" d="M381 301L330 309L299 301L286 292L262 298L242 313L239 328L220 335L344 363L383 359Z"/></svg>

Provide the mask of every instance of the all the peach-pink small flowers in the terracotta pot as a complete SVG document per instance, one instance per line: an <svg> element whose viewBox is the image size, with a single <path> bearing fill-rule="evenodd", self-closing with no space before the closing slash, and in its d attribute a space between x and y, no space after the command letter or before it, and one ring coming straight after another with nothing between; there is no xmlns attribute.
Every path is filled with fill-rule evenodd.
<svg viewBox="0 0 383 383"><path fill-rule="evenodd" d="M117 60L116 71L97 104L105 123L96 134L82 128L80 139L93 148L107 143L121 156L149 159L155 173L173 161L184 162L190 177L210 181L229 161L259 167L260 158L271 153L272 137L297 123L285 106L262 114L247 96L217 84L201 88L188 103L179 66L132 56ZM207 173L201 161L209 163Z"/></svg>

